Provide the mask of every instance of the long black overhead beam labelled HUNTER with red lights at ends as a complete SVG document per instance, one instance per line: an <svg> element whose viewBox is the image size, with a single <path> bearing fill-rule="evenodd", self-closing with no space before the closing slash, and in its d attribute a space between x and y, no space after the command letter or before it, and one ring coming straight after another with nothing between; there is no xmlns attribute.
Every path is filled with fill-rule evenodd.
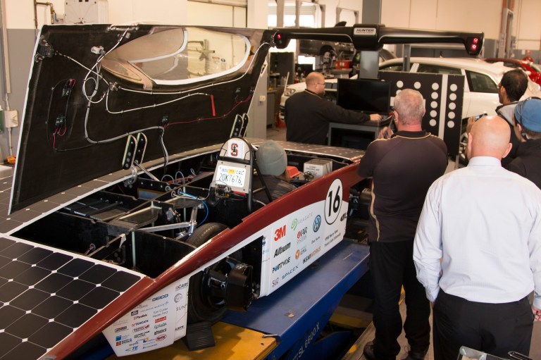
<svg viewBox="0 0 541 360"><path fill-rule="evenodd" d="M331 42L351 42L357 50L378 51L384 44L423 44L431 42L464 44L469 55L483 49L484 32L418 30L386 27L383 24L356 24L352 27L322 27L311 29L276 29L273 39L278 49L284 49L290 39L317 39Z"/></svg>

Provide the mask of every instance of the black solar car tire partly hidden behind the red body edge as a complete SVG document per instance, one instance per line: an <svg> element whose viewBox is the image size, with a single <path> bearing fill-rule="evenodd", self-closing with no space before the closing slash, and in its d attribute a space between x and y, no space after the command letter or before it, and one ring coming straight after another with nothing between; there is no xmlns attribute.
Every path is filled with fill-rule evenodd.
<svg viewBox="0 0 541 360"><path fill-rule="evenodd" d="M206 223L195 229L186 242L194 247L199 247L226 228L227 226L221 223ZM229 257L241 261L242 252L235 252ZM231 263L230 259L226 258L217 263L213 263L209 266L209 269L217 271L218 273L227 274L234 266L235 264ZM211 295L210 285L206 283L207 281L208 278L205 276L204 271L193 275L192 278L189 279L188 323L199 323L201 321L216 323L223 318L225 311L227 311L224 299Z"/></svg>

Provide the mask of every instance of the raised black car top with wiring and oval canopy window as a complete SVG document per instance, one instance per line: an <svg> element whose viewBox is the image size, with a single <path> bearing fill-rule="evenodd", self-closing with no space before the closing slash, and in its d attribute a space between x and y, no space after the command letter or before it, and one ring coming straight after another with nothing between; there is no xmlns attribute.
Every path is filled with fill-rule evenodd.
<svg viewBox="0 0 541 360"><path fill-rule="evenodd" d="M11 211L144 161L220 144L247 113L273 31L44 26L28 84ZM126 156L127 155L127 156ZM129 166L128 166L129 168ZM39 184L39 186L37 186Z"/></svg>

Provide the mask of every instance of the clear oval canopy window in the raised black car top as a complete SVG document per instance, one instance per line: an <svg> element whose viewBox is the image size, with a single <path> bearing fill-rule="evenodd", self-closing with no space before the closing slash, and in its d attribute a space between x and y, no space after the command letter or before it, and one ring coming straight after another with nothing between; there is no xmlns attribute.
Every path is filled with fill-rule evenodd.
<svg viewBox="0 0 541 360"><path fill-rule="evenodd" d="M249 49L242 35L199 27L166 28L119 46L101 66L132 82L181 85L239 70Z"/></svg>

